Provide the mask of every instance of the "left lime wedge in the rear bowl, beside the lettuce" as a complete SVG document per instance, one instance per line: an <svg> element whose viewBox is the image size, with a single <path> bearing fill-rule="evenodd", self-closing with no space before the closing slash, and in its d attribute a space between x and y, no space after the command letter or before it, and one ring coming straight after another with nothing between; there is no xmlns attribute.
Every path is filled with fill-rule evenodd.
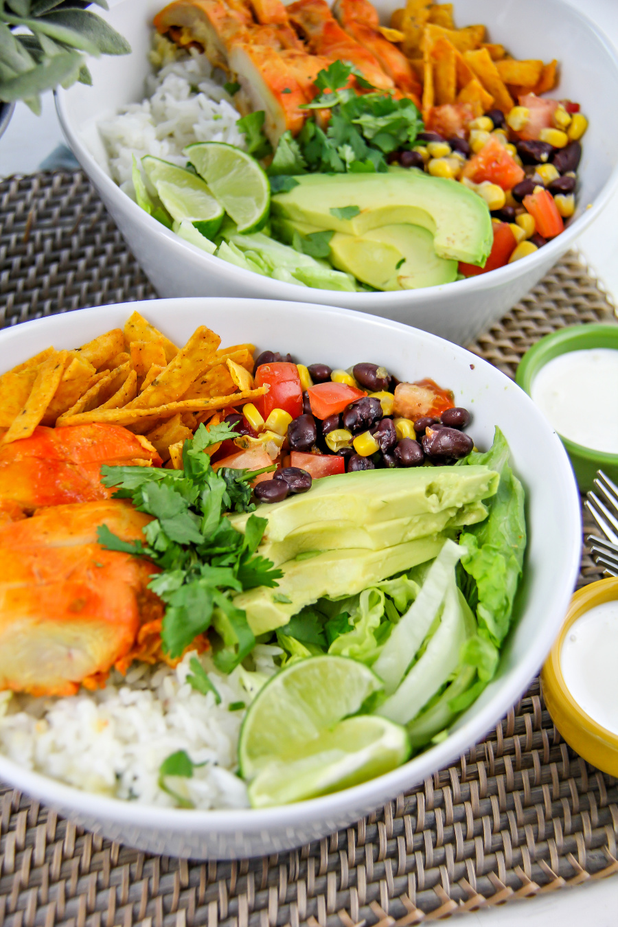
<svg viewBox="0 0 618 927"><path fill-rule="evenodd" d="M142 164L175 222L186 219L207 238L217 235L225 213L201 177L152 155L145 155Z"/></svg>

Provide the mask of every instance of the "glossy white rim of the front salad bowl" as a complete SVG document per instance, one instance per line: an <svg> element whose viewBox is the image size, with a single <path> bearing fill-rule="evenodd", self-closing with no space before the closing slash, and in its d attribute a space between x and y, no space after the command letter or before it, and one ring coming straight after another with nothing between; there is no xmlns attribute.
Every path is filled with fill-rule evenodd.
<svg viewBox="0 0 618 927"><path fill-rule="evenodd" d="M107 312L113 308L115 310L124 309L127 314L132 311L142 311L148 314L149 308L153 305L159 305L161 308L167 307L169 310L168 317L173 324L173 308L180 305L188 305L190 309L195 308L196 318L204 318L205 308L208 304L217 307L217 311L233 313L236 309L244 309L247 305L252 308L259 306L266 308L270 306L271 311L292 312L304 315L309 324L316 324L315 313L321 313L322 318L338 318L345 322L347 326L352 324L361 324L367 329L368 338L371 337L372 328L388 329L397 337L400 334L405 337L414 337L417 341L422 341L431 349L433 346L448 345L449 352L453 354L453 362L472 363L474 368L486 369L492 377L497 377L498 382L503 381L505 388L512 388L514 384L498 368L478 355L473 354L459 345L448 342L445 338L435 336L421 329L413 328L410 325L395 322L390 319L373 316L368 313L351 311L336 306L324 306L318 303L298 302L290 303L288 300L278 299L249 299L249 298L198 298L198 297L177 297L164 298L156 300L129 301L114 304L110 306L99 306L91 309L80 310L79 319L84 321L88 318L99 317L105 324ZM227 305L226 305L227 304ZM4 349L11 349L11 343L20 341L23 337L28 339L29 334L33 333L34 328L48 327L53 329L57 326L59 331L63 328L70 330L71 335L75 331L75 322L71 318L72 313L61 313L54 316L46 316L35 319L30 322L22 323L11 328L0 331L0 355ZM299 320L300 321L300 320ZM72 323L72 325L71 325ZM23 333L23 334L22 334ZM302 824L315 822L318 819L331 819L336 814L341 814L343 810L350 808L359 808L361 806L373 805L375 807L383 805L385 800L394 797L401 791L410 788L410 764L413 764L420 757L431 756L432 768L444 768L454 759L460 756L471 743L475 743L479 737L484 736L487 730L490 730L502 715L511 707L517 698L527 686L530 679L538 671L541 661L549 653L551 643L554 640L557 630L563 621L563 615L567 609L574 587L575 578L577 577L581 559L581 510L579 492L577 490L573 470L569 462L566 451L561 445L560 438L553 432L547 423L547 420L536 409L533 401L525 394L519 397L523 400L526 415L537 425L548 432L548 438L555 448L555 457L553 459L552 483L558 485L561 483L565 489L562 498L562 508L571 522L572 531L570 536L564 539L564 557L561 561L561 578L564 580L563 588L555 594L553 608L549 610L552 621L544 623L542 629L538 631L536 638L536 648L529 649L515 666L511 667L508 676L502 680L502 687L495 693L493 698L482 707L480 712L469 717L457 730L452 731L448 737L441 743L436 743L429 750L424 751L415 757L412 757L408 763L397 767L391 772L385 773L376 779L372 779L349 789L333 794L322 795L318 798L312 798L305 802L296 802L295 804L275 806L272 808L254 809L183 809L159 807L153 805L141 805L134 802L128 802L120 798L109 797L103 794L83 792L82 790L65 784L61 781L54 780L42 773L33 772L23 768L6 756L0 754L0 777L4 781L13 783L19 789L36 795L38 798L56 806L70 807L71 813L82 813L84 815L95 815L97 819L122 821L123 826L138 826L146 832L154 829L171 831L183 829L193 829L199 831L207 827L211 831L217 830L221 833L231 832L262 832L269 828L292 827ZM418 781L418 778L415 780ZM248 812L248 813L247 813Z"/></svg>

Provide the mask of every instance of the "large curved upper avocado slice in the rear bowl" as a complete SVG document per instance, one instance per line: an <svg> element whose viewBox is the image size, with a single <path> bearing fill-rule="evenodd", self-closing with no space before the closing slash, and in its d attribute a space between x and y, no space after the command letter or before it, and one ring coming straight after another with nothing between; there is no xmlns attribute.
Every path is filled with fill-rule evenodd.
<svg viewBox="0 0 618 927"><path fill-rule="evenodd" d="M296 186L271 198L273 215L345 235L364 235L382 225L421 225L434 235L435 253L483 266L493 243L485 200L463 184L423 171L303 174ZM342 218L342 210L359 212Z"/></svg>

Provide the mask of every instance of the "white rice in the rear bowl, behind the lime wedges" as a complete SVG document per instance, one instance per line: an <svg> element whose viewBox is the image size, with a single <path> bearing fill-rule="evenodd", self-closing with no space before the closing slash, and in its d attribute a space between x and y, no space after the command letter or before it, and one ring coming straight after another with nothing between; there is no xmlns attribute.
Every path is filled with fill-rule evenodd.
<svg viewBox="0 0 618 927"><path fill-rule="evenodd" d="M184 167L183 148L192 142L246 147L245 134L236 127L240 113L221 83L212 80L206 55L179 53L158 36L151 58L160 70L146 79L142 103L131 103L98 124L111 175L129 194L133 155L137 160L154 155Z"/></svg>

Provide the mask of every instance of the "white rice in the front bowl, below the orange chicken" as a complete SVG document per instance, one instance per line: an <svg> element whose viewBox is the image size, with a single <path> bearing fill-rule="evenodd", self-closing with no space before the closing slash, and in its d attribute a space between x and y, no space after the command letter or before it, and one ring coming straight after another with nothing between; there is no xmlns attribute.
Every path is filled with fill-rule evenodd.
<svg viewBox="0 0 618 927"><path fill-rule="evenodd" d="M190 779L166 779L170 789L199 808L246 807L246 786L236 775L246 712L230 711L230 705L250 703L281 653L259 644L252 654L256 672L237 667L230 676L201 656L221 705L212 692L203 695L186 681L195 653L175 669L135 664L126 677L113 672L97 692L60 698L0 692L0 751L23 768L87 792L170 807L177 803L159 788L159 768L184 750L205 765Z"/></svg>

